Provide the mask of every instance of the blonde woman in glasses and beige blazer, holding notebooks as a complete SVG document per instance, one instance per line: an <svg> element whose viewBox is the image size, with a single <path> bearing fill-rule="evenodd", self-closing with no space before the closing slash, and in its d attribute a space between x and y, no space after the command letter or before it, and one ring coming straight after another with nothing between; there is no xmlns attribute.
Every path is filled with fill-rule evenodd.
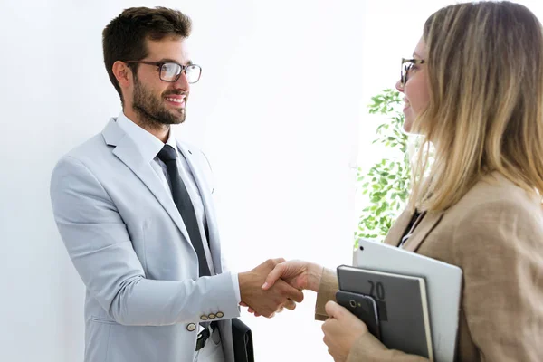
<svg viewBox="0 0 543 362"><path fill-rule="evenodd" d="M459 360L543 360L541 24L510 2L444 7L424 24L396 88L405 94L405 131L422 135L424 147L386 243L462 268ZM326 319L336 362L424 360L386 348L329 301L334 271L283 262L262 288L279 278L318 291L316 318Z"/></svg>

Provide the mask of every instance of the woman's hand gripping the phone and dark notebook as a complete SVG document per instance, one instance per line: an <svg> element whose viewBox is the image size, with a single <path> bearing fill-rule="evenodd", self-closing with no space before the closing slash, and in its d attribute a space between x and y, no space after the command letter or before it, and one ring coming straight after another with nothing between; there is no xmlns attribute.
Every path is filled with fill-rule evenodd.
<svg viewBox="0 0 543 362"><path fill-rule="evenodd" d="M325 309L329 319L322 324L322 340L334 362L345 362L355 341L368 333L366 324L332 300L326 303Z"/></svg>

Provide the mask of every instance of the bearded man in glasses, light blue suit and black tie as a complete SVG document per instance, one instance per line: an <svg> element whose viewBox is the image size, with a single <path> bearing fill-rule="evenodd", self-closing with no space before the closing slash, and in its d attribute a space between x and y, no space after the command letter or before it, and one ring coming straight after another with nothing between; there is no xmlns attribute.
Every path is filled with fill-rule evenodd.
<svg viewBox="0 0 543 362"><path fill-rule="evenodd" d="M201 69L186 52L190 19L130 8L103 31L122 112L62 157L51 198L86 286L86 362L233 362L239 304L270 317L303 294L261 286L281 259L224 271L204 154L176 141Z"/></svg>

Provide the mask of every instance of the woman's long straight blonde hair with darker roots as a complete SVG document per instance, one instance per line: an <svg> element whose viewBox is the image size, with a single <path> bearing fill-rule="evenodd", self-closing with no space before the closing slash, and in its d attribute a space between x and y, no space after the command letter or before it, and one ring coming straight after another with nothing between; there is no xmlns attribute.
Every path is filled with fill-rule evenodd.
<svg viewBox="0 0 543 362"><path fill-rule="evenodd" d="M430 100L413 167L413 210L441 211L497 171L543 195L543 30L525 6L450 5L424 24ZM428 165L430 145L434 160Z"/></svg>

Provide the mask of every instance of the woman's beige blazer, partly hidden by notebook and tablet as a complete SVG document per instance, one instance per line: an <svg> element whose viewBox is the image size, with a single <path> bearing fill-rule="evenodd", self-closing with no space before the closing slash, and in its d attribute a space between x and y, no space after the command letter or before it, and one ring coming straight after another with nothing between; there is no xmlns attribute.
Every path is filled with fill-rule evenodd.
<svg viewBox="0 0 543 362"><path fill-rule="evenodd" d="M404 212L385 243L397 245L412 213ZM428 213L405 249L463 271L457 347L460 361L543 361L543 211L530 196L498 174L484 177L445 212ZM443 289L447 288L443 285ZM328 318L334 271L323 273L315 318ZM348 362L424 361L387 349L367 333Z"/></svg>

